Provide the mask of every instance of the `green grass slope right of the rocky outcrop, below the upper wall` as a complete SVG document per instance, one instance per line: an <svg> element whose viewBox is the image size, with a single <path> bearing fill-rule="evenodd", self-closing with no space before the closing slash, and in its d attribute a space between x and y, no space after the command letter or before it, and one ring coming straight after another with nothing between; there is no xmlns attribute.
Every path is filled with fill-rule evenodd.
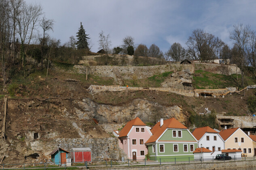
<svg viewBox="0 0 256 170"><path fill-rule="evenodd" d="M255 84L254 77L244 77L244 84L245 87ZM193 74L193 87L196 89L242 88L241 75L220 75L203 70L196 70Z"/></svg>

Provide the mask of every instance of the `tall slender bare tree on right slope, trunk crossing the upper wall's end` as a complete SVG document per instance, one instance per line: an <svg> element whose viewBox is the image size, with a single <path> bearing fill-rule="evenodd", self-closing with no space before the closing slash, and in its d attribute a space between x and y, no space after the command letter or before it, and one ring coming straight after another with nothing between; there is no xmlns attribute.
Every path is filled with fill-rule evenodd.
<svg viewBox="0 0 256 170"><path fill-rule="evenodd" d="M243 27L243 24L234 25L234 30L230 33L230 39L233 40L233 43L238 48L238 54L235 57L235 61L237 63L237 66L239 66L241 70L243 88L244 88L244 72L245 72L245 66L246 66L245 50L249 40L249 36L250 36L250 26L246 25L245 27ZM243 95L245 95L245 91L243 92Z"/></svg>

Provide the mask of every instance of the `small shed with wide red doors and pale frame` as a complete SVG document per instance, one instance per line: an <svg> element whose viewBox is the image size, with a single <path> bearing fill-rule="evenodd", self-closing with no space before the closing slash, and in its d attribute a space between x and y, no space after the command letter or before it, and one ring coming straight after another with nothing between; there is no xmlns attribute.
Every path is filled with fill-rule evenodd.
<svg viewBox="0 0 256 170"><path fill-rule="evenodd" d="M72 162L91 162L91 149L89 147L72 148Z"/></svg>

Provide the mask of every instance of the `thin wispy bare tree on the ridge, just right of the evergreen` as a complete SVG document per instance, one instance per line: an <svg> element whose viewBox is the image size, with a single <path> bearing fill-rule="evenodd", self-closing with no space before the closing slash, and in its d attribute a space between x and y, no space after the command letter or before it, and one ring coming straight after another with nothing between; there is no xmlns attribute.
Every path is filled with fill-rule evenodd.
<svg viewBox="0 0 256 170"><path fill-rule="evenodd" d="M103 49L106 56L110 53L110 46L111 46L111 40L110 40L110 34L104 35L104 32L101 31L99 33L99 50Z"/></svg>

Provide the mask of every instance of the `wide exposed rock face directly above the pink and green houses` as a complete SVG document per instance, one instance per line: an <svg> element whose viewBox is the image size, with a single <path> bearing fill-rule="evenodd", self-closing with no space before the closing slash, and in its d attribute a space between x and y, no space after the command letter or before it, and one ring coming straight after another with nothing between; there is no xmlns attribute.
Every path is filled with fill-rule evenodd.
<svg viewBox="0 0 256 170"><path fill-rule="evenodd" d="M144 99L133 100L123 106L111 106L106 104L97 104L85 98L82 101L75 100L75 112L80 120L95 118L102 123L123 123L137 116L144 122L157 122L160 118L174 117L180 122L186 120L180 106L166 107L155 102Z"/></svg>

